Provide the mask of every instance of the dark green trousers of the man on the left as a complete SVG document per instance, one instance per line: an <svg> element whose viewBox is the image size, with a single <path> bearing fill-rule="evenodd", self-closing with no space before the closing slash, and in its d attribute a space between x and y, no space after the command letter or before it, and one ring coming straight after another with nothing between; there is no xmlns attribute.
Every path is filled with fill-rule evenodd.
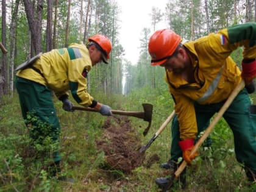
<svg viewBox="0 0 256 192"><path fill-rule="evenodd" d="M15 78L15 86L19 94L23 118L27 119L28 112L35 112L35 115L38 116L43 123L51 126L52 132L54 132L52 140L59 140L60 124L52 102L51 90L37 82L18 76ZM59 152L54 152L52 155L54 162L60 161Z"/></svg>

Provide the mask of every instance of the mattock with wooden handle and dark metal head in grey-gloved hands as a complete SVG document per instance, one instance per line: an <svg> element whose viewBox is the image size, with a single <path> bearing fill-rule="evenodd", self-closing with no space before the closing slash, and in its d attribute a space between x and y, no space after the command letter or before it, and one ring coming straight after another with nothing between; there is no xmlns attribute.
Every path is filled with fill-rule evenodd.
<svg viewBox="0 0 256 192"><path fill-rule="evenodd" d="M149 125L146 127L146 129L143 132L143 135L147 135L149 128L151 126L152 121L152 112L153 112L153 105L152 104L142 104L144 112L127 112L127 111L119 111L119 110L111 110L113 114L116 115L125 115L125 116L133 116L137 118L141 118L144 121L148 121ZM73 106L73 110L83 110L87 112L98 112L98 110L95 110L94 108L90 107L79 107L79 106Z"/></svg>

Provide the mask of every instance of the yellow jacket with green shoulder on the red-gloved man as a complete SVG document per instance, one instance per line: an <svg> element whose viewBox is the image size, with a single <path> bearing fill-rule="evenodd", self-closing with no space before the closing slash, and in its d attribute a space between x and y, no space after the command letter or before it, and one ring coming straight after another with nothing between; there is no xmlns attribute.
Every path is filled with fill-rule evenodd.
<svg viewBox="0 0 256 192"><path fill-rule="evenodd" d="M165 80L175 102L180 139L197 135L194 102L202 105L225 101L241 81L241 71L229 56L243 46L243 58L256 58L256 23L236 25L183 44L194 68L196 83L166 70Z"/></svg>

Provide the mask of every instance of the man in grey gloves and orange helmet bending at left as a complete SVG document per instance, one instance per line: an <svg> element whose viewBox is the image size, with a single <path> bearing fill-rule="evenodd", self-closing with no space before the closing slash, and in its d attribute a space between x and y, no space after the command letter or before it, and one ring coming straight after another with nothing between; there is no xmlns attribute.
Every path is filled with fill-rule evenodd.
<svg viewBox="0 0 256 192"><path fill-rule="evenodd" d="M53 49L18 66L15 84L23 118L27 120L27 115L33 113L40 121L49 124L52 140L58 141L60 124L51 91L63 102L63 109L68 112L73 111L73 103L68 99L68 91L71 91L78 104L95 108L102 115L112 115L108 105L97 102L87 92L89 71L101 61L108 63L111 50L110 40L105 35L97 34L88 38L86 45L72 43L68 48ZM34 126L37 127L37 124ZM37 131L30 133L34 140L40 138ZM58 168L59 152L54 152L53 157L53 167ZM52 175L55 176L57 172L58 170L54 171Z"/></svg>

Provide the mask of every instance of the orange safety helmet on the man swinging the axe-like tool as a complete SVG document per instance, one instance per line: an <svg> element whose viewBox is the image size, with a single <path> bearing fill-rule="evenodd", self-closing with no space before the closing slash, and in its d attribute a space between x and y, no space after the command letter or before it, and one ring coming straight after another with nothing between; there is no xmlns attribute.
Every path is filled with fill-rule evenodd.
<svg viewBox="0 0 256 192"><path fill-rule="evenodd" d="M102 52L102 60L104 63L108 63L107 59L109 59L109 54L112 50L112 43L105 35L93 35L92 37L88 38L88 41L93 41L96 43L99 47L99 51Z"/></svg>

